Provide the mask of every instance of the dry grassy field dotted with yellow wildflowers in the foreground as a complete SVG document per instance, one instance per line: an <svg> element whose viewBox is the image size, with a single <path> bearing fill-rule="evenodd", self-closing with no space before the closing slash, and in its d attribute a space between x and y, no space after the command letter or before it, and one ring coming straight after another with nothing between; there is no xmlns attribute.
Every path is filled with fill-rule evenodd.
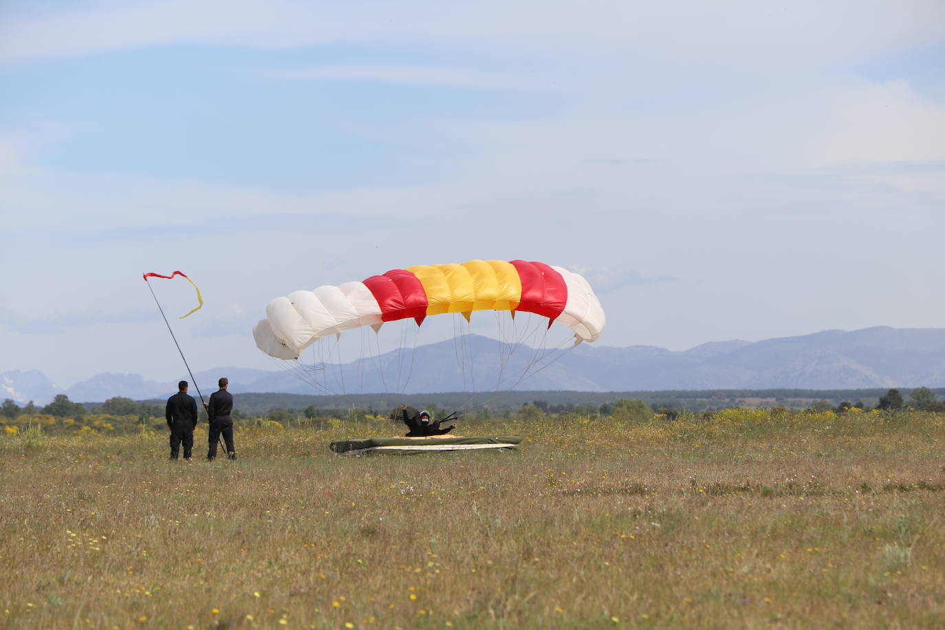
<svg viewBox="0 0 945 630"><path fill-rule="evenodd" d="M341 457L383 422L0 437L0 626L945 627L945 416L463 424L521 452ZM204 453L206 434L198 433Z"/></svg>

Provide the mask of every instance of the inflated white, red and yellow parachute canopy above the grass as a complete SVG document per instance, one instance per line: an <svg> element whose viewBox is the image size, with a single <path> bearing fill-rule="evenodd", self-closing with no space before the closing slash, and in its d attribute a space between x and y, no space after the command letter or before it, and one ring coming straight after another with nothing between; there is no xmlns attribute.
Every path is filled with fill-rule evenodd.
<svg viewBox="0 0 945 630"><path fill-rule="evenodd" d="M321 337L387 321L472 311L535 313L575 332L576 343L604 330L604 309L583 277L563 267L525 261L470 261L391 269L381 276L319 286L275 298L253 329L269 356L297 359Z"/></svg>

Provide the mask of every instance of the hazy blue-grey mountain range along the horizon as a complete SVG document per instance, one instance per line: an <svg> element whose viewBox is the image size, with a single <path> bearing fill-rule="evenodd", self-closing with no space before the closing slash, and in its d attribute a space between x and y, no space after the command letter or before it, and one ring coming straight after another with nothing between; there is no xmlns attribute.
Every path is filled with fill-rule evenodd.
<svg viewBox="0 0 945 630"><path fill-rule="evenodd" d="M286 365L294 367L216 367L195 376L208 393L221 375L230 379L234 391L289 394L941 386L945 329L823 331L754 343L711 342L682 351L588 344L552 351L466 335L340 366ZM520 381L522 374L530 376ZM80 402L114 396L146 400L168 396L176 391L176 382L176 375L162 383L139 374L104 373L60 388L40 370L12 369L0 373L0 399L45 404L61 393Z"/></svg>

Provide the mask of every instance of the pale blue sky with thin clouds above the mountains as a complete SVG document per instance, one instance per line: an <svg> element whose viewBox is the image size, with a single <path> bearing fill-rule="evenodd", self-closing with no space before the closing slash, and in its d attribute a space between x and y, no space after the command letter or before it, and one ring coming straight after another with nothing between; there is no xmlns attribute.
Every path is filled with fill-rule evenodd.
<svg viewBox="0 0 945 630"><path fill-rule="evenodd" d="M937 0L6 2L0 91L0 370L175 380L174 269L201 369L472 258L585 273L612 346L945 325Z"/></svg>

